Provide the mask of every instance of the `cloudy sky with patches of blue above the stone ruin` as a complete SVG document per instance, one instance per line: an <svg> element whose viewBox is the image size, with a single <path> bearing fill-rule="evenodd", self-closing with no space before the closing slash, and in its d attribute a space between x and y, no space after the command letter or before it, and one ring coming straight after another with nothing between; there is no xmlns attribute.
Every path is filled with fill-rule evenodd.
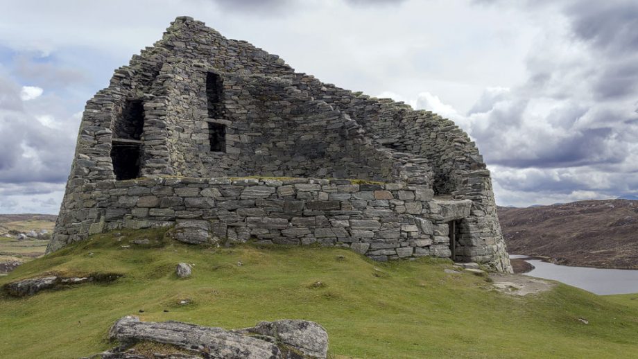
<svg viewBox="0 0 638 359"><path fill-rule="evenodd" d="M3 0L0 213L57 213L86 100L179 15L463 127L501 205L638 195L635 0Z"/></svg>

